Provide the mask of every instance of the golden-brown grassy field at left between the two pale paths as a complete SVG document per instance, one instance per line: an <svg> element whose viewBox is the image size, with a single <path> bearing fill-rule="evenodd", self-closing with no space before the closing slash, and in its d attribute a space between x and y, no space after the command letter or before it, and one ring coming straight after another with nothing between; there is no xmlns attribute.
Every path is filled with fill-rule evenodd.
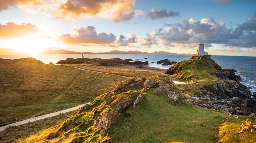
<svg viewBox="0 0 256 143"><path fill-rule="evenodd" d="M0 64L0 73L1 126L89 102L124 79L26 62Z"/></svg>

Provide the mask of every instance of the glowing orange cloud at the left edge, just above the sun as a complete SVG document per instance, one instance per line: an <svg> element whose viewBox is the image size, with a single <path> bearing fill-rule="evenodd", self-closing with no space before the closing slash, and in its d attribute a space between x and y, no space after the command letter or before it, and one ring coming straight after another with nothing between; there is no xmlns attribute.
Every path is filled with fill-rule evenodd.
<svg viewBox="0 0 256 143"><path fill-rule="evenodd" d="M40 32L36 25L31 23L15 24L12 22L6 25L0 24L0 39L20 38Z"/></svg>

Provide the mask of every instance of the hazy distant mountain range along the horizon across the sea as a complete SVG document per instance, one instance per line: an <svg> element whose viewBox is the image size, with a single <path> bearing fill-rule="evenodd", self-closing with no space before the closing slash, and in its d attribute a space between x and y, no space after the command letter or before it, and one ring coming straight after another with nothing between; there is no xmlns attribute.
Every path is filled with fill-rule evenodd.
<svg viewBox="0 0 256 143"><path fill-rule="evenodd" d="M140 52L140 51L110 51L110 52L99 52L99 53L92 53L92 52L75 52L75 51L69 51L64 49L59 50L52 50L52 49L43 49L41 54L143 54L143 55L192 55L192 54L177 54L177 53L170 53L165 51L159 51L159 52ZM0 48L0 54L26 54L25 52L19 52L16 49L11 48Z"/></svg>

